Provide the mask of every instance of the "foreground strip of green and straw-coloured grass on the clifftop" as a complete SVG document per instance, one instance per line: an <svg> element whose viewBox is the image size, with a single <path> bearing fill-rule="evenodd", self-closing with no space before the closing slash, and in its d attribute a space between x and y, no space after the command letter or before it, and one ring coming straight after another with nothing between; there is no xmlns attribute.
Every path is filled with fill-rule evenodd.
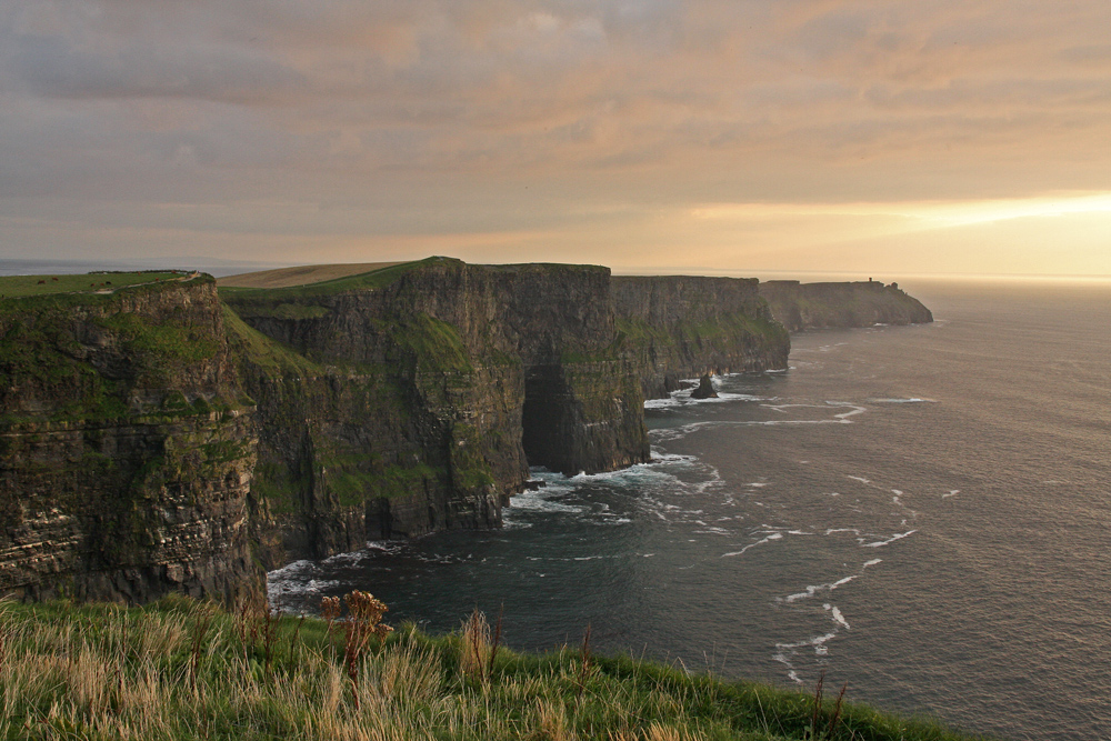
<svg viewBox="0 0 1111 741"><path fill-rule="evenodd" d="M490 631L411 629L352 658L341 622L183 598L0 603L6 739L967 739L845 703ZM352 660L353 659L353 660Z"/></svg>

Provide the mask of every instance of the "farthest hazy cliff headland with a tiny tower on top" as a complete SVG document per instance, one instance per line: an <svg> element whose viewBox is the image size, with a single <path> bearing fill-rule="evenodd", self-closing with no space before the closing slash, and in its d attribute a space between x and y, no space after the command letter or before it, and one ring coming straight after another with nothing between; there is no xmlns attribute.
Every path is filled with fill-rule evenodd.
<svg viewBox="0 0 1111 741"><path fill-rule="evenodd" d="M760 296L772 316L788 330L872 324L918 324L932 322L933 314L922 303L899 289L879 281L852 283L800 283L773 280L760 284Z"/></svg>

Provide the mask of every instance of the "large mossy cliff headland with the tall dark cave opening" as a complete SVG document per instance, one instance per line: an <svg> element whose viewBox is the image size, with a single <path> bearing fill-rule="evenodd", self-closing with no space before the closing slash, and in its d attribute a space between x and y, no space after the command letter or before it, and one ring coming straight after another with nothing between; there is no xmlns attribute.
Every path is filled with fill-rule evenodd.
<svg viewBox="0 0 1111 741"><path fill-rule="evenodd" d="M433 259L380 273L226 296L242 332L307 363L244 364L274 561L498 525L530 463L648 459L609 270Z"/></svg>

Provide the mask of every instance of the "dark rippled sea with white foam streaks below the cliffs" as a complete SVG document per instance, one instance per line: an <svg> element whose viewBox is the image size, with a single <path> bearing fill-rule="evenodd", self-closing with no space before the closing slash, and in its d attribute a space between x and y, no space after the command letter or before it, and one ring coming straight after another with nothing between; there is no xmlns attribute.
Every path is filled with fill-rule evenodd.
<svg viewBox="0 0 1111 741"><path fill-rule="evenodd" d="M931 326L812 332L791 369L649 404L654 459L541 473L506 528L301 562L397 622L504 610L520 649L811 687L1012 739L1111 738L1111 288L912 287Z"/></svg>

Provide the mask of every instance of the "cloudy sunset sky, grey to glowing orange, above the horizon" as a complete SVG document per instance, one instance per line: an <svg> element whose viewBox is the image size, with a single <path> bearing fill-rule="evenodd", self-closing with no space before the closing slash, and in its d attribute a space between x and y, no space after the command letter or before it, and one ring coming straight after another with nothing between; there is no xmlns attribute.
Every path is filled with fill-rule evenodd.
<svg viewBox="0 0 1111 741"><path fill-rule="evenodd" d="M0 259L1111 276L1108 0L0 0Z"/></svg>

